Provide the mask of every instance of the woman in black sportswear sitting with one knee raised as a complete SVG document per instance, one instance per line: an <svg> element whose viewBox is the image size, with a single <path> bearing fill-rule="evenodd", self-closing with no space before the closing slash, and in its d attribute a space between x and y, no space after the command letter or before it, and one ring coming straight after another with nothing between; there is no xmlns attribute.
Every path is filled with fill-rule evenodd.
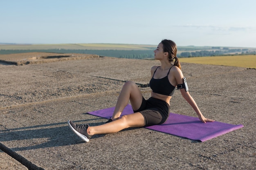
<svg viewBox="0 0 256 170"><path fill-rule="evenodd" d="M88 124L76 125L72 121L68 121L70 128L76 135L88 142L95 134L115 133L125 128L162 124L169 116L170 99L177 85L181 88L182 96L195 110L199 119L203 123L213 121L202 115L194 99L184 87L186 83L184 84L180 62L176 57L176 44L171 40L162 40L154 53L155 60L159 60L161 65L151 68L151 97L145 100L134 82L126 82L117 99L112 118L106 124L89 127ZM175 62L172 64L174 59ZM134 113L120 117L129 100Z"/></svg>

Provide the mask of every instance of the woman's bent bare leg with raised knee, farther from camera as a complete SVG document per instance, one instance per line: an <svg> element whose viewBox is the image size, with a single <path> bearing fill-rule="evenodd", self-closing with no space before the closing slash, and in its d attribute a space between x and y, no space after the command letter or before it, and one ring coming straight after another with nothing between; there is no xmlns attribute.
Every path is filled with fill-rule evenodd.
<svg viewBox="0 0 256 170"><path fill-rule="evenodd" d="M138 110L139 107L141 106L142 98L143 97L142 97L141 91L139 90L137 84L131 81L126 82L117 99L117 104L115 106L112 119L116 120L120 117L125 106L128 104L129 99L132 105L132 109Z"/></svg>

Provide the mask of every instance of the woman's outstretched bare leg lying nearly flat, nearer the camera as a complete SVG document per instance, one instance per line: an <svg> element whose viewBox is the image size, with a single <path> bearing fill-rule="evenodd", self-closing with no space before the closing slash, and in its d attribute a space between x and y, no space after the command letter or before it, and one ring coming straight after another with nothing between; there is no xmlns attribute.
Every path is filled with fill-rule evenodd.
<svg viewBox="0 0 256 170"><path fill-rule="evenodd" d="M109 134L119 132L125 128L142 127L145 126L144 116L141 113L132 113L124 115L120 119L102 124L99 126L90 126L87 130L89 135L95 134Z"/></svg>

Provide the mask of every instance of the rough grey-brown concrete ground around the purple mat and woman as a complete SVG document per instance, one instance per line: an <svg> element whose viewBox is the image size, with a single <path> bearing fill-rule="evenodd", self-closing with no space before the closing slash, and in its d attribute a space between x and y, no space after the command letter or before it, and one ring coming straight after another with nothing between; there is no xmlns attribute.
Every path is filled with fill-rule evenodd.
<svg viewBox="0 0 256 170"><path fill-rule="evenodd" d="M69 129L68 119L103 124L106 119L86 112L115 106L125 81L147 84L151 66L158 64L111 57L0 64L0 169L255 169L254 69L182 63L203 115L244 125L205 142L129 128L85 143ZM140 89L150 97L149 87ZM196 117L179 91L171 112Z"/></svg>

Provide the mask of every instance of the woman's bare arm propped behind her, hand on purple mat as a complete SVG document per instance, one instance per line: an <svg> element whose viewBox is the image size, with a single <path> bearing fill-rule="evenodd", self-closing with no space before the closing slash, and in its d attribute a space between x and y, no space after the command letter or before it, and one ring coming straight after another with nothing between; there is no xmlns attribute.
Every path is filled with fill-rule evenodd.
<svg viewBox="0 0 256 170"><path fill-rule="evenodd" d="M176 71L174 73L174 77L176 79L177 84L183 84L183 74L182 71L176 67ZM181 88L180 92L182 94L182 97L190 104L190 106L195 110L195 113L198 115L198 118L203 122L206 123L207 121L214 121L211 119L205 118L200 109L198 108L198 105L195 103L195 100L191 95L189 94L188 91L185 90L185 88Z"/></svg>

